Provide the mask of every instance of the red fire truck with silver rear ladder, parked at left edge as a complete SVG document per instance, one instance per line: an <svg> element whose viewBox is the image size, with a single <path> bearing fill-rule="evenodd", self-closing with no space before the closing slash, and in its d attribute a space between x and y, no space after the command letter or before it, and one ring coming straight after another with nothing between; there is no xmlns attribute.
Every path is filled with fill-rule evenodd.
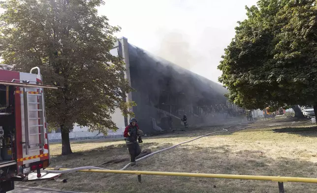
<svg viewBox="0 0 317 193"><path fill-rule="evenodd" d="M38 67L30 73L12 67L0 64L0 193L29 173L40 178L50 164L43 89L58 89L42 84Z"/></svg>

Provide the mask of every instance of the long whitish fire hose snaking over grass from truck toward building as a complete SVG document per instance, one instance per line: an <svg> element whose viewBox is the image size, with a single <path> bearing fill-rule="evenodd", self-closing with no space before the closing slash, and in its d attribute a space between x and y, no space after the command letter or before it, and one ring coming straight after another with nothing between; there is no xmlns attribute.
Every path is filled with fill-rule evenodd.
<svg viewBox="0 0 317 193"><path fill-rule="evenodd" d="M239 124L237 124L237 125L239 125ZM227 132L227 131L228 131L227 129L229 129L229 128L231 128L231 127L234 127L234 126L237 126L237 125L231 125L231 126L226 127L225 129L222 129L222 130L220 130L220 131L211 132L211 133L208 133L208 134L205 134L205 135L202 135L202 136L199 136L199 137L190 139L190 140L188 140L188 141L184 141L184 142L182 142L182 143L173 145L173 146L171 146L171 147L161 149L161 150L159 150L159 151L156 151L156 152L153 152L153 153L151 153L151 154L148 154L148 155L146 155L146 156L144 156L144 157L142 157L142 158L139 158L139 159L137 159L137 160L135 160L135 161L137 161L137 162L138 162L138 161L142 161L142 160L147 159L147 158L149 158L149 157L151 157L151 156L153 156L153 155L155 155L155 154L161 153L161 152L166 151L166 150L169 150L169 149L173 149L173 148L175 148L175 147L177 147L177 146L180 146L180 145L182 145L182 144L189 143L189 142L191 142L191 141L197 140L197 139L202 138L202 137L206 137L206 136L211 135L211 134L220 133L220 132ZM128 163L126 166L124 166L124 167L123 167L122 169L120 169L120 170L125 170L125 169L127 169L127 167L128 167L130 164L131 164L131 163ZM76 172L76 171L80 171L80 170L92 170L92 169L109 170L109 169L102 168L102 167L83 166L83 167L76 167L76 168L71 168L71 169L66 169L66 170L54 170L54 168L47 168L47 169L45 169L44 171L47 172L47 173L61 173L61 174L65 174L65 173L71 173L71 172Z"/></svg>

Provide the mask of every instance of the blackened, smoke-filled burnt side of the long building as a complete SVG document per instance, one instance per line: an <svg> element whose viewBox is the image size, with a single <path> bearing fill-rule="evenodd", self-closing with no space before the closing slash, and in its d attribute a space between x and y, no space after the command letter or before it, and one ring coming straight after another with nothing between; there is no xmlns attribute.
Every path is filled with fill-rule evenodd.
<svg viewBox="0 0 317 193"><path fill-rule="evenodd" d="M128 44L133 112L146 133L235 117L239 108L227 101L227 90L207 78Z"/></svg>

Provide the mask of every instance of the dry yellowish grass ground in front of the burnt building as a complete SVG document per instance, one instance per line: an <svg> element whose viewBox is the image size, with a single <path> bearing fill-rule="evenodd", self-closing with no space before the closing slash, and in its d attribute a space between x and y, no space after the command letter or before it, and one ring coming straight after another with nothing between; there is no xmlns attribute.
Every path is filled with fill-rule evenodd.
<svg viewBox="0 0 317 193"><path fill-rule="evenodd" d="M128 170L247 174L317 178L317 127L312 124L266 126L272 122L235 126L140 161ZM266 125L265 125L266 124ZM152 152L221 130L204 127L144 137L142 149ZM240 130L243 129L243 130ZM61 156L61 144L51 144L51 166L91 166L127 158L124 140L73 142L73 154ZM107 166L121 169L127 162ZM278 193L277 182L142 175L72 173L67 183L29 182L28 186L90 193ZM21 183L19 183L21 184ZM317 184L285 183L286 193L316 193Z"/></svg>

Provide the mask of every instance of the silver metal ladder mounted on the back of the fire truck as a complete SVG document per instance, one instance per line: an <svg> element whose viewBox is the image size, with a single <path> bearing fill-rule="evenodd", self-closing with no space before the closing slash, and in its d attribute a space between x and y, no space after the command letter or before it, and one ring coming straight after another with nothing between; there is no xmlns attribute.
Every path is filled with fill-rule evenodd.
<svg viewBox="0 0 317 193"><path fill-rule="evenodd" d="M35 86L35 85L34 85ZM24 127L25 127L25 152L26 155L28 155L32 151L39 151L44 149L44 127L45 127L45 105L44 105L44 92L43 88L33 87L33 89L36 89L39 91L38 93L35 92L33 94L32 92L29 93L27 88L23 88L23 101L24 101ZM30 102L29 98L30 96L36 96L37 102ZM38 108L30 108L30 104L34 106L38 106ZM30 118L30 114L32 112L38 112L38 116L35 118ZM38 124L30 125L32 120L38 120ZM34 123L34 122L33 122ZM39 128L37 132L30 133L31 128ZM30 144L30 136L37 135L40 138L40 143L36 144ZM33 147L39 147L39 149L35 150L29 150Z"/></svg>

